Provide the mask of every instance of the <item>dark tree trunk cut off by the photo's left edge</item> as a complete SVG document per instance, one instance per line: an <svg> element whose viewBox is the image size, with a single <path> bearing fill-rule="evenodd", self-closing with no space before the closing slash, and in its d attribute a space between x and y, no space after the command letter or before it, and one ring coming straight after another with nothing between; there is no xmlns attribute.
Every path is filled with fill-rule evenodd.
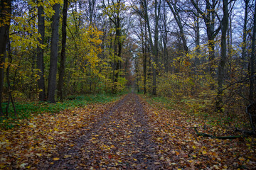
<svg viewBox="0 0 256 170"><path fill-rule="evenodd" d="M4 62L11 23L11 0L2 0L0 4L0 116L3 116Z"/></svg>

